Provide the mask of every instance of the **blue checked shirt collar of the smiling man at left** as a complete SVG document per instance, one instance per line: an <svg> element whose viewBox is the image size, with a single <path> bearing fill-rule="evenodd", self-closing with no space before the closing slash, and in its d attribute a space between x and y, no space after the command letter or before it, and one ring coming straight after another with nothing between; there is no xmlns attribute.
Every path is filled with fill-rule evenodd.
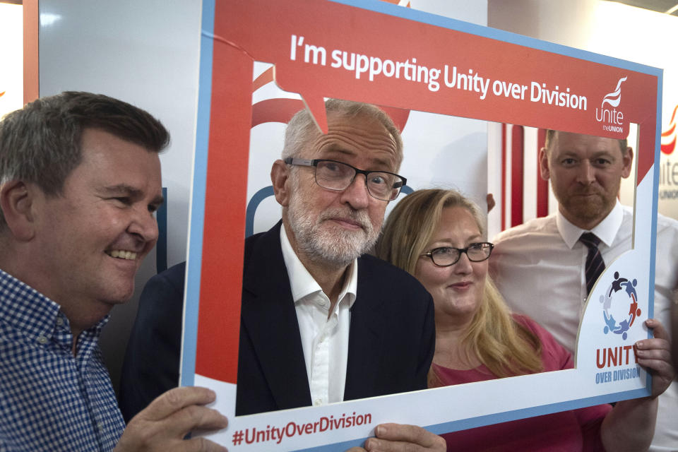
<svg viewBox="0 0 678 452"><path fill-rule="evenodd" d="M96 340L109 317L105 316L95 326L83 331L83 338ZM31 337L56 340L71 346L71 326L59 304L1 269L0 319Z"/></svg>

